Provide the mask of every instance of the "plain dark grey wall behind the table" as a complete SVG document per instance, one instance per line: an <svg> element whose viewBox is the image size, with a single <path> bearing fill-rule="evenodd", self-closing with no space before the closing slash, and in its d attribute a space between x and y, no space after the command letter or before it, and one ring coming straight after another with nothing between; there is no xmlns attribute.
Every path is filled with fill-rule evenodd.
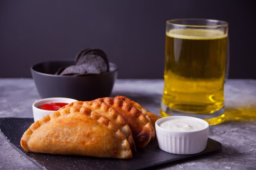
<svg viewBox="0 0 256 170"><path fill-rule="evenodd" d="M118 78L163 78L165 21L229 22L229 78L256 79L253 0L0 0L0 77L37 62L106 51Z"/></svg>

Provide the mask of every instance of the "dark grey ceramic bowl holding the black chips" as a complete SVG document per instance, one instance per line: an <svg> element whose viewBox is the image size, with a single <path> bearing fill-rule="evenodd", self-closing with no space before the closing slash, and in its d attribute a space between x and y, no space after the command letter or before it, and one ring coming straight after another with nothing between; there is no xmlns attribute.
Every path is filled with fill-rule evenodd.
<svg viewBox="0 0 256 170"><path fill-rule="evenodd" d="M117 65L109 63L109 71L80 76L54 75L63 66L74 65L74 60L47 61L31 66L36 88L42 98L68 97L90 101L111 94L117 78Z"/></svg>

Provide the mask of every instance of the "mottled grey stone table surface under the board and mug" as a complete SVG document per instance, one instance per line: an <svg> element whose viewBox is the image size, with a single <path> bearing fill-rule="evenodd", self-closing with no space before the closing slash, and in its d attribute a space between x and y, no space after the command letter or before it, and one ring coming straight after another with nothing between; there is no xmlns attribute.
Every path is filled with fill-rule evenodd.
<svg viewBox="0 0 256 170"><path fill-rule="evenodd" d="M117 79L112 96L124 95L159 115L163 79ZM0 78L0 117L33 117L31 105L40 99L33 79ZM153 169L255 170L256 80L229 79L225 84L229 121L211 126L209 137L222 143L222 151L167 163ZM40 169L0 135L0 169Z"/></svg>

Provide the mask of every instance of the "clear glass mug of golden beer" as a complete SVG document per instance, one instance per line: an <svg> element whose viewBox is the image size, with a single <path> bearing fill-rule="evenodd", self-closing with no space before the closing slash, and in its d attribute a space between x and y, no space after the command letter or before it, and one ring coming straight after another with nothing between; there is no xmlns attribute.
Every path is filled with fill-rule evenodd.
<svg viewBox="0 0 256 170"><path fill-rule="evenodd" d="M225 21L176 19L166 22L161 117L193 116L211 125L226 120L227 37Z"/></svg>

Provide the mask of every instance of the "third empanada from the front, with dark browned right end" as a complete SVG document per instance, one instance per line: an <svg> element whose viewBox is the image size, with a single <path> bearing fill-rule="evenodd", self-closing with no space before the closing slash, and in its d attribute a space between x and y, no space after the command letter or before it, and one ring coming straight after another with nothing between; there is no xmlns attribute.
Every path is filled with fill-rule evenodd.
<svg viewBox="0 0 256 170"><path fill-rule="evenodd" d="M132 130L133 140L137 147L143 148L148 144L152 136L151 125L140 110L128 102L114 97L99 98L95 101L106 103L115 108L126 119Z"/></svg>

